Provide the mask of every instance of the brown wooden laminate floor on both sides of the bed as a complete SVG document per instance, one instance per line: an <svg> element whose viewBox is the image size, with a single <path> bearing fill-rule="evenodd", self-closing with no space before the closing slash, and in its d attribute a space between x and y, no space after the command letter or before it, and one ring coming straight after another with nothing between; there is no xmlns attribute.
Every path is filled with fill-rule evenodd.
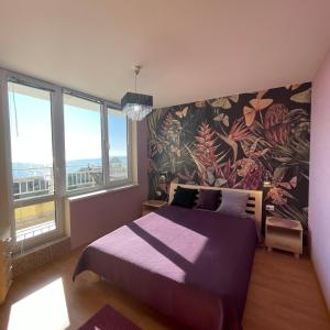
<svg viewBox="0 0 330 330"><path fill-rule="evenodd" d="M72 282L79 251L15 280L0 307L0 329L77 329L106 304L143 329L182 329L90 273ZM311 263L256 251L244 330L326 330L329 316Z"/></svg>

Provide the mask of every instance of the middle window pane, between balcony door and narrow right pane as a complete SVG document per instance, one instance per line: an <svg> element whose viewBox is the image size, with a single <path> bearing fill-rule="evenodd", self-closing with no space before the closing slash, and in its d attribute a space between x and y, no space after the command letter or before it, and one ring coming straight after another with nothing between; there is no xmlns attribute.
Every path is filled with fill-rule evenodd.
<svg viewBox="0 0 330 330"><path fill-rule="evenodd" d="M64 95L67 190L103 185L101 106Z"/></svg>

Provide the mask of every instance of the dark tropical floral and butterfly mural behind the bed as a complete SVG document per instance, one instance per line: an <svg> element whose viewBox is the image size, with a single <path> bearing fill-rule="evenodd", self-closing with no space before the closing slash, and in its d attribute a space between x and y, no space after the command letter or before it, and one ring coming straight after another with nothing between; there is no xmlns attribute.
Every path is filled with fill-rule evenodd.
<svg viewBox="0 0 330 330"><path fill-rule="evenodd" d="M154 110L150 197L166 183L263 189L279 217L307 228L311 84L241 94ZM160 179L161 178L161 179Z"/></svg>

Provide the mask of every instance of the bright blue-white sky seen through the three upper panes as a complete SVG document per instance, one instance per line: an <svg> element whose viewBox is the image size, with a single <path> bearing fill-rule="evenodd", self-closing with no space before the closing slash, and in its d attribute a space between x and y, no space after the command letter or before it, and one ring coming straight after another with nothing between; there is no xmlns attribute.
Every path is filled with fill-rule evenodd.
<svg viewBox="0 0 330 330"><path fill-rule="evenodd" d="M43 98L9 91L11 150L13 163L53 163L51 102ZM48 99L47 99L48 98ZM15 107L14 107L15 105ZM15 111L16 109L16 116ZM98 111L65 105L66 161L101 157L101 120ZM108 116L110 156L127 155L127 124L123 116Z"/></svg>

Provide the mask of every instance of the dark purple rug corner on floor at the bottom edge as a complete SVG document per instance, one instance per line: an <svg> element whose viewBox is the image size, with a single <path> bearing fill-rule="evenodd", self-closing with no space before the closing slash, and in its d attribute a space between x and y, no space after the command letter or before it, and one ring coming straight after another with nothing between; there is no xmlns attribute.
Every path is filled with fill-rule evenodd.
<svg viewBox="0 0 330 330"><path fill-rule="evenodd" d="M79 330L139 330L138 326L106 305L91 317Z"/></svg>

